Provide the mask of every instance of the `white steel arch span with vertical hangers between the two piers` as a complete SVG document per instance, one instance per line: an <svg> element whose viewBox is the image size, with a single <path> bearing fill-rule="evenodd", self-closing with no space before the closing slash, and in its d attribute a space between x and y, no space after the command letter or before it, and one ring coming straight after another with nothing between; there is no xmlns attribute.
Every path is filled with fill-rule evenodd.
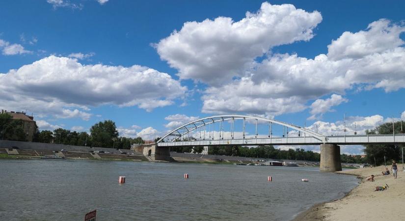
<svg viewBox="0 0 405 221"><path fill-rule="evenodd" d="M243 120L243 138L234 138L235 135L235 120ZM256 121L256 133L255 138L245 138L245 125L246 122ZM269 124L269 134L268 138L258 138L257 124L260 122L267 122ZM231 138L224 138L224 122L230 122L231 128ZM219 123L219 136L214 138L214 128L215 124ZM284 128L291 128L298 131L298 137L274 137L272 136L272 124L281 125ZM213 137L211 137L211 125L213 128ZM204 135L207 127L209 127L210 134L208 139L201 139L202 128L204 128ZM199 135L197 136L197 134ZM184 139L186 135L192 135L195 133L196 137L194 140ZM302 134L302 136L300 136ZM174 137L174 138L173 138ZM199 137L199 138L197 138ZM171 138L169 140L169 138ZM164 141L166 139L166 141ZM238 115L238 114L228 114L228 115L216 115L200 118L189 123L186 123L163 136L157 141L158 146L185 146L185 145L233 145L233 144L244 144L244 145L259 145L259 144L321 144L324 143L325 136L316 133L306 128L273 120L264 117L249 116L249 115Z"/></svg>

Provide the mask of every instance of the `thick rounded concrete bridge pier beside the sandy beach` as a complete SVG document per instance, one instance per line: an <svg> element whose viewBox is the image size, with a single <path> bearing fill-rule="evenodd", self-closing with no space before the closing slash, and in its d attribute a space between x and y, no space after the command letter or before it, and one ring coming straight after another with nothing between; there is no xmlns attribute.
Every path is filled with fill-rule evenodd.
<svg viewBox="0 0 405 221"><path fill-rule="evenodd" d="M342 170L342 164L340 162L340 146L333 143L321 144L320 170L324 172Z"/></svg>

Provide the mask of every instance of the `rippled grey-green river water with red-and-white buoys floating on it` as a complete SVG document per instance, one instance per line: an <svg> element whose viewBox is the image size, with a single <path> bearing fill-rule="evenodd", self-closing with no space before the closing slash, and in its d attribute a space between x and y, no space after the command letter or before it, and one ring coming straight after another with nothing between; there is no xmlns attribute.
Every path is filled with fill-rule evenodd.
<svg viewBox="0 0 405 221"><path fill-rule="evenodd" d="M0 160L0 220L291 220L356 185L312 167Z"/></svg>

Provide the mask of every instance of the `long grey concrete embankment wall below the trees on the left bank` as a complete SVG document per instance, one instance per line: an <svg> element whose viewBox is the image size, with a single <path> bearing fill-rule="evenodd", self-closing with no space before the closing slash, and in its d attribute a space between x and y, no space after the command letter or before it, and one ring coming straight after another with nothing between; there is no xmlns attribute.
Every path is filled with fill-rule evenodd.
<svg viewBox="0 0 405 221"><path fill-rule="evenodd" d="M110 153L120 153L119 150L113 148L103 148L103 147L85 147L85 146L71 146L71 145L64 145L64 144L56 144L56 143L36 143L36 142L23 142L23 141L13 141L13 140L0 140L0 148L11 148L13 146L18 147L19 149L27 149L27 150L54 150L59 151L61 149L65 149L68 151L77 151L77 152L89 152L90 150L103 150L108 151ZM136 153L133 150L128 149L121 149L122 152L127 153Z"/></svg>

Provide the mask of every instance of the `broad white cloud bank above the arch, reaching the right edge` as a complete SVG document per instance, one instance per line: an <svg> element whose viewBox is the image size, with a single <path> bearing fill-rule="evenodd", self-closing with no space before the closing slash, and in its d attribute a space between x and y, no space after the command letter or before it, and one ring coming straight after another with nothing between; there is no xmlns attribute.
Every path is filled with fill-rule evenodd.
<svg viewBox="0 0 405 221"><path fill-rule="evenodd" d="M380 46L378 50L370 51L368 46L364 46L359 48L363 50L362 53L353 55L348 52L342 58L333 53L331 58L329 54L321 54L314 59L299 57L296 54L271 54L256 63L254 69L246 69L242 78L220 86L209 86L203 92L202 111L279 115L302 111L308 108L308 101L325 95L331 95L331 99L319 100L314 105L338 105L339 102L346 102L343 97L333 94L345 94L346 90L353 87L383 88L386 92L404 88L405 48L398 46L402 42L400 34L404 31L404 26L389 23L387 20L373 22L368 29L352 34L361 33L367 35L367 41L379 42L374 38L381 36L373 33L382 32L384 39L397 42L392 43L397 47ZM343 43L336 40L331 43L330 46L333 47L329 47L330 50L338 50L337 41L339 47L344 48ZM363 41L358 41L363 44ZM356 43L348 41L348 44L347 47ZM312 111L312 115L331 111L325 107L321 112L312 109L317 112Z"/></svg>

